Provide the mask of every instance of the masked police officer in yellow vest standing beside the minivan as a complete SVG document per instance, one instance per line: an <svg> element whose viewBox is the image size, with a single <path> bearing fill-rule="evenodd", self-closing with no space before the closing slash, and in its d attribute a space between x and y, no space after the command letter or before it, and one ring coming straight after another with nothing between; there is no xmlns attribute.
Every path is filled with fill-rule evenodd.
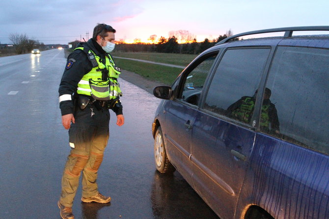
<svg viewBox="0 0 329 219"><path fill-rule="evenodd" d="M116 114L116 124L124 124L117 82L121 70L109 54L115 46L115 32L109 25L98 24L92 39L80 43L68 56L59 85L62 124L69 129L71 147L57 203L62 219L74 219L72 205L81 172L82 202L111 200L98 191L96 180L109 138L109 109Z"/></svg>

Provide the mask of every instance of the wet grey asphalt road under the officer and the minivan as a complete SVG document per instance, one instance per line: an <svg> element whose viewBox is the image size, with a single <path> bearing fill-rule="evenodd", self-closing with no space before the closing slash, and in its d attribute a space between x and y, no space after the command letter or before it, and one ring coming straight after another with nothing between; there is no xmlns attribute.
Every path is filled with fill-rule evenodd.
<svg viewBox="0 0 329 219"><path fill-rule="evenodd" d="M70 151L57 93L65 63L60 50L0 58L1 219L60 218L56 203ZM79 188L76 219L218 219L178 172L155 170L151 124L160 100L119 82L125 124L110 121L98 178L100 192L112 201L83 204Z"/></svg>

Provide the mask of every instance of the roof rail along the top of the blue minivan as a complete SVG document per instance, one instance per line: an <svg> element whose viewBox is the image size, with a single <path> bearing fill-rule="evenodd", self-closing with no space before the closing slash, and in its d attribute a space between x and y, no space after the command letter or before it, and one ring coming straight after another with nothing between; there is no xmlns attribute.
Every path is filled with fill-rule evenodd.
<svg viewBox="0 0 329 219"><path fill-rule="evenodd" d="M272 32L285 32L283 37L291 37L293 34L293 31L317 31L317 30L328 30L329 26L312 26L312 27L282 27L282 28L273 28L273 29L262 29L262 30L255 30L255 31L249 31L244 33L239 33L230 37L227 37L220 42L218 42L216 45L220 45L223 43L228 42L229 40L233 38L237 38L240 36L247 36L252 34L259 34L259 33L272 33Z"/></svg>

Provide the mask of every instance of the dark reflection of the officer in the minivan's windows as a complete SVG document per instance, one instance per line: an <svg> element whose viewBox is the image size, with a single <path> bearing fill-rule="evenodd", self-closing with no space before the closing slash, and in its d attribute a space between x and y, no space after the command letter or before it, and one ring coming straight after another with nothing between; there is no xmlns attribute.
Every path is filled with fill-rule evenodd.
<svg viewBox="0 0 329 219"><path fill-rule="evenodd" d="M257 91L258 90L255 91L252 97L244 96L229 106L227 108L228 117L250 124L255 107ZM278 134L280 124L275 105L270 101L271 93L272 92L269 88L265 88L262 112L260 116L260 128L264 132Z"/></svg>

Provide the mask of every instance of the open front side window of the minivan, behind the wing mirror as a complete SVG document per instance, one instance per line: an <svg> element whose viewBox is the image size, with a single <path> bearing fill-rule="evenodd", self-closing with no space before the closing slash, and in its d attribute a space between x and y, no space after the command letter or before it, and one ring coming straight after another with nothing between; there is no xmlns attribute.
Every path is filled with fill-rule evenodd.
<svg viewBox="0 0 329 219"><path fill-rule="evenodd" d="M203 84L206 81L208 73L214 64L215 58L218 55L212 53L201 57L201 62L193 68L193 70L185 76L184 87L181 100L192 105L197 105L203 89Z"/></svg>

